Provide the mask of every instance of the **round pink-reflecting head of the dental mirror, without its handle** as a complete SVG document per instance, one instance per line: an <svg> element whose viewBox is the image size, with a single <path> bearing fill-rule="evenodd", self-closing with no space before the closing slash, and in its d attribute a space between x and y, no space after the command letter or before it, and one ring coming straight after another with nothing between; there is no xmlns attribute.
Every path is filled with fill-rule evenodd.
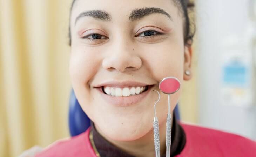
<svg viewBox="0 0 256 157"><path fill-rule="evenodd" d="M180 89L181 83L176 77L166 77L159 83L159 89L165 94L173 94Z"/></svg>

